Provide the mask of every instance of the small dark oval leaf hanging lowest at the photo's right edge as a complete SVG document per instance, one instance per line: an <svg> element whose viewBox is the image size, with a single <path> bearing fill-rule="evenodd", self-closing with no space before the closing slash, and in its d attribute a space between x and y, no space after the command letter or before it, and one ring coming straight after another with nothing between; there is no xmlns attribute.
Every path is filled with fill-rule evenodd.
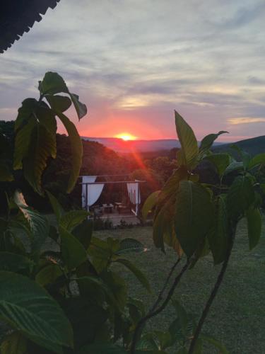
<svg viewBox="0 0 265 354"><path fill-rule="evenodd" d="M254 249L261 236L262 219L259 208L250 207L247 210L247 234L249 237L249 249Z"/></svg>

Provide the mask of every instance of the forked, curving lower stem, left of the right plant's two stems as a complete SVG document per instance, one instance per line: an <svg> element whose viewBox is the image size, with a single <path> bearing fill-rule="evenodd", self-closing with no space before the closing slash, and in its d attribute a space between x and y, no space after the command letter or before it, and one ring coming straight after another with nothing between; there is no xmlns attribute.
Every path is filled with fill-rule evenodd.
<svg viewBox="0 0 265 354"><path fill-rule="evenodd" d="M177 266L178 262L179 262L179 260L175 263L175 265L173 265L172 269L170 270L170 275L172 274L173 270ZM155 302L155 304L153 305L151 310L148 312L148 314L146 314L146 316L142 317L140 319L140 321L138 322L138 324L136 326L136 329L134 331L134 337L133 337L133 339L131 341L131 350L130 350L131 354L135 353L136 343L137 343L137 340L138 340L139 332L143 328L143 325L146 323L146 321L148 321L148 319L151 319L153 316L156 316L157 314L162 312L163 309L165 309L165 307L167 306L168 302L170 301L170 299L171 299L171 297L172 297L172 295L173 295L173 293L175 291L175 288L177 287L177 285L179 283L179 280L182 278L182 275L185 273L185 271L189 267L189 263L190 263L190 259L187 260L186 264L184 265L182 270L180 270L179 274L175 278L175 281L173 282L172 286L170 287L170 290L169 290L169 292L167 294L167 297L165 298L163 304L161 304L160 307L158 307L158 309L155 309L158 306L158 303L160 302L160 294L165 291L163 289L164 289L164 287L167 286L167 284L164 285L163 289L161 290L160 294L158 295L158 300ZM170 278L170 276L168 275L166 283L169 281L169 278ZM161 299L162 299L162 297L161 297Z"/></svg>

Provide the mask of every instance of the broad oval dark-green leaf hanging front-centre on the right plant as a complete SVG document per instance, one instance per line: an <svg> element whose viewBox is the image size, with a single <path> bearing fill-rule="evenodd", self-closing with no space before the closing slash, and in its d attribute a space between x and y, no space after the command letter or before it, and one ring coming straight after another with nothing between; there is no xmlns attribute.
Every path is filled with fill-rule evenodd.
<svg viewBox="0 0 265 354"><path fill-rule="evenodd" d="M175 232L187 256L192 256L204 242L212 222L213 203L206 188L181 181L176 196Z"/></svg>

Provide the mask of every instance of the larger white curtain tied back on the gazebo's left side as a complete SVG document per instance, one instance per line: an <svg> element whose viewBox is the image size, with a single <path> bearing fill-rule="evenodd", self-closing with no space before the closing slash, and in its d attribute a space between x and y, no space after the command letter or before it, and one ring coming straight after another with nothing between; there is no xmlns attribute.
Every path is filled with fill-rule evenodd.
<svg viewBox="0 0 265 354"><path fill-rule="evenodd" d="M97 176L83 176L82 183L94 183ZM82 207L90 207L100 198L104 183L82 185Z"/></svg>

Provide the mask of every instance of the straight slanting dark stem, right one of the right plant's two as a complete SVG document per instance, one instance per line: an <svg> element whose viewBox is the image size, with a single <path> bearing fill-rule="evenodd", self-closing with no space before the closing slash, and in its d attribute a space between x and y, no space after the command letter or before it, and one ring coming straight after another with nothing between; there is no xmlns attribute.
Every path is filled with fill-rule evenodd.
<svg viewBox="0 0 265 354"><path fill-rule="evenodd" d="M235 232L233 232L232 237L230 239L230 245L228 247L228 252L226 253L225 260L223 261L222 268L221 268L220 273L218 275L218 278L216 280L216 284L213 287L211 295L208 298L208 301L206 302L206 305L204 307L204 311L201 314L201 318L199 319L199 322L198 322L198 324L196 326L196 330L195 330L194 336L192 338L192 342L191 342L191 344L189 346L188 354L192 354L194 352L194 349L195 349L195 346L196 346L196 341L199 338L202 326L204 325L204 321L205 321L206 317L208 316L208 312L209 312L209 309L211 307L211 304L213 303L213 300L216 297L216 294L217 294L217 292L219 290L221 282L223 281L223 276L225 275L225 270L228 267L228 261L229 261L230 255L231 255L232 245L234 243L234 235L235 235Z"/></svg>

